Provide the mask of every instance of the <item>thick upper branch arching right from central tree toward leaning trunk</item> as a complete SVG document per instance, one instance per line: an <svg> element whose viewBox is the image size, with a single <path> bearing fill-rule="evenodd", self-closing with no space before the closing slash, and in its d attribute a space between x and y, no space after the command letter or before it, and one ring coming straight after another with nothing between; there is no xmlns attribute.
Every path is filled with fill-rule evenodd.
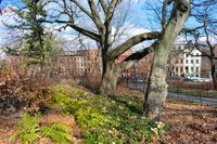
<svg viewBox="0 0 217 144"><path fill-rule="evenodd" d="M128 39L127 41L125 41L120 45L118 45L116 49L113 49L112 51L110 51L108 56L110 56L111 60L115 60L120 54L123 54L125 51L130 49L131 47L133 47L133 45L136 45L136 44L138 44L138 43L140 43L144 40L157 39L157 38L159 38L159 36L161 36L161 32L158 32L158 31L137 35L137 36Z"/></svg>

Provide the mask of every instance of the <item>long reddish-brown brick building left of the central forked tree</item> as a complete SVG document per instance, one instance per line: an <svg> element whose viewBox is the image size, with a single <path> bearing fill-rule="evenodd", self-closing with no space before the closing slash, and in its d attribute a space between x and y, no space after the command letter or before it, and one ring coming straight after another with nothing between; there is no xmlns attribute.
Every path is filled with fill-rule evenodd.
<svg viewBox="0 0 217 144"><path fill-rule="evenodd" d="M86 73L99 73L101 58L99 50L65 51L52 57L52 77L81 76Z"/></svg>

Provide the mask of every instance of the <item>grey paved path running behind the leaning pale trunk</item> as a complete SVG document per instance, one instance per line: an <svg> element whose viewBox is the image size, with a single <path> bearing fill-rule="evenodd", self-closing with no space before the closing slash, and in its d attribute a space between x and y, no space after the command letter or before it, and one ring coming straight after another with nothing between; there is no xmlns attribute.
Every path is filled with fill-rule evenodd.
<svg viewBox="0 0 217 144"><path fill-rule="evenodd" d="M137 84L129 83L128 87L131 89L140 90L140 91L145 91L145 89L146 89L146 86L143 83L137 83ZM212 97L186 95L186 94L175 93L175 92L168 92L168 97L176 97L176 99L197 102L201 104L209 104L209 105L217 106L217 99L212 99Z"/></svg>

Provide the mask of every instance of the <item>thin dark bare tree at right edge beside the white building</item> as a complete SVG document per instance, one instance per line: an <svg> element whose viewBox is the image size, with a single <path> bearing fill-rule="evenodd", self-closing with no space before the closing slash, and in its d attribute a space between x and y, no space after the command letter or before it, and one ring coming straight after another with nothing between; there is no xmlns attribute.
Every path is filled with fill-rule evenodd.
<svg viewBox="0 0 217 144"><path fill-rule="evenodd" d="M205 56L209 61L210 74L214 89L217 90L217 17L216 6L217 0L205 0L203 2L193 3L194 11L191 16L199 23L195 31L192 34L194 38L194 48L202 52L199 56ZM204 41L200 39L204 38Z"/></svg>

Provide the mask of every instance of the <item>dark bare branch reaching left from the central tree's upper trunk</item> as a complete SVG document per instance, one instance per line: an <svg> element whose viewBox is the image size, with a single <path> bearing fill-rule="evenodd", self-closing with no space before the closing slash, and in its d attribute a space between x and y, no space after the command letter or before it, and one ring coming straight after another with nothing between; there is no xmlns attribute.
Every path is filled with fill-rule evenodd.
<svg viewBox="0 0 217 144"><path fill-rule="evenodd" d="M77 26L77 25L75 25L73 22L71 22L71 21L42 21L43 23L59 23L59 24L66 24L66 25L68 25L68 26L71 26L73 29L75 29L76 31L78 31L78 32L80 32L80 34L82 34L82 35L85 35L85 36L87 36L87 37L89 37L89 38L91 38L91 39L93 39L93 40L95 40L95 41L100 41L100 36L98 35L98 34L94 34L94 32L92 32L92 31L89 31L89 30L87 30L87 29L84 29L84 28L81 28L81 27L79 27L79 26Z"/></svg>

